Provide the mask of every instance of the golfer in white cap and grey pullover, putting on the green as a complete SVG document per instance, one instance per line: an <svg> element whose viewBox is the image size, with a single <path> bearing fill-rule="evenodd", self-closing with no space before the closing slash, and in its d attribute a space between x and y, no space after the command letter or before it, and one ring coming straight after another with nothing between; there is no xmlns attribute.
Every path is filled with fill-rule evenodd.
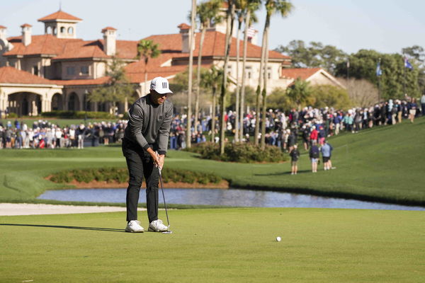
<svg viewBox="0 0 425 283"><path fill-rule="evenodd" d="M145 231L140 221L137 221L137 204L143 177L147 187L149 231L167 230L162 220L158 219L158 183L159 168L164 166L173 117L173 104L166 100L171 93L167 79L160 76L154 78L149 94L139 98L128 111L129 121L123 138L123 154L130 175L126 232Z"/></svg>

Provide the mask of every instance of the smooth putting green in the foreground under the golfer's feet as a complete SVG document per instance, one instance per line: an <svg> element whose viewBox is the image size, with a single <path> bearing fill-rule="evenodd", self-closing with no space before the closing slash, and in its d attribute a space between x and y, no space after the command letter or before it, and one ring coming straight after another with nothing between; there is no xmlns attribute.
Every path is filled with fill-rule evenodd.
<svg viewBox="0 0 425 283"><path fill-rule="evenodd" d="M171 235L124 233L124 219L123 213L0 216L0 282L425 279L423 212L172 210ZM144 213L140 219L146 227Z"/></svg>

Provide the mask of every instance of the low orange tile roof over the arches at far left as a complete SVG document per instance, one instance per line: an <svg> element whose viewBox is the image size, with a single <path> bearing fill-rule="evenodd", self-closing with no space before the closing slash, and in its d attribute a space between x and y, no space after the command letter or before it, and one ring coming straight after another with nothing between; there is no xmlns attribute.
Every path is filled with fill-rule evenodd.
<svg viewBox="0 0 425 283"><path fill-rule="evenodd" d="M56 84L54 81L35 76L28 71L21 71L13 67L0 68L0 83L23 84Z"/></svg>

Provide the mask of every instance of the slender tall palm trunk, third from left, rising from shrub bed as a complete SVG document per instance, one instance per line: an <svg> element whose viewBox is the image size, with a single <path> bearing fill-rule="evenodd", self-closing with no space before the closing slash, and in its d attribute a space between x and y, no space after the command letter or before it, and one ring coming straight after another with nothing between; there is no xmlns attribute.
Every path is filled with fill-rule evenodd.
<svg viewBox="0 0 425 283"><path fill-rule="evenodd" d="M233 22L234 22L234 1L233 0L227 0L228 8L227 8L227 27L226 27L226 40L225 40L225 64L223 66L224 74L222 77L222 86L221 86L221 93L220 93L220 110L221 110L221 117L220 117L220 155L225 153L225 114L226 114L226 108L225 108L225 98L226 98L226 91L227 91L227 65L229 64L229 52L230 52L230 45L232 42L232 29L233 29Z"/></svg>

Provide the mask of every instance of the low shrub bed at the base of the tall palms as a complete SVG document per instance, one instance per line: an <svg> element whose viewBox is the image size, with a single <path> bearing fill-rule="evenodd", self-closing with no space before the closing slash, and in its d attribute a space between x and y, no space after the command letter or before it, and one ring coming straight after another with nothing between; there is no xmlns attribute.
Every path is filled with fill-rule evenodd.
<svg viewBox="0 0 425 283"><path fill-rule="evenodd" d="M200 154L201 158L239 163L280 162L288 159L277 146L266 146L262 151L259 146L249 143L226 144L225 154L222 156L220 145L212 142L196 144L187 150Z"/></svg>

